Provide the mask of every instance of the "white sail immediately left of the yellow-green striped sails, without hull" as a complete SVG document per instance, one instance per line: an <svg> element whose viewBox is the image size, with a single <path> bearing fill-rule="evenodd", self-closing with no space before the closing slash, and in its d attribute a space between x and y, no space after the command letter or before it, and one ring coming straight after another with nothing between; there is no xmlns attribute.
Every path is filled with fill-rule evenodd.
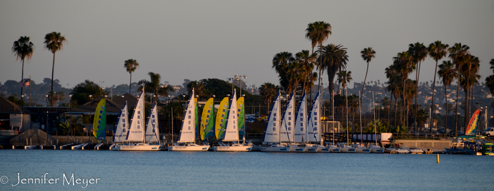
<svg viewBox="0 0 494 191"><path fill-rule="evenodd" d="M187 101L184 116L182 118L182 127L180 128L179 143L195 142L196 139L196 104L194 101L194 90Z"/></svg>

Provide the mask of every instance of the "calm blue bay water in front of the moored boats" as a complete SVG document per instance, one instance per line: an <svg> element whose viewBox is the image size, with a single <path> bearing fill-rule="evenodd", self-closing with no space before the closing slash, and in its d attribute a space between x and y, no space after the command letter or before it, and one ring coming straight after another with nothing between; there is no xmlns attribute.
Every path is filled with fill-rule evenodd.
<svg viewBox="0 0 494 191"><path fill-rule="evenodd" d="M440 155L437 164L435 154L3 149L0 177L8 183L0 190L491 190L493 162ZM12 186L17 173L60 180ZM64 173L99 180L62 185Z"/></svg>

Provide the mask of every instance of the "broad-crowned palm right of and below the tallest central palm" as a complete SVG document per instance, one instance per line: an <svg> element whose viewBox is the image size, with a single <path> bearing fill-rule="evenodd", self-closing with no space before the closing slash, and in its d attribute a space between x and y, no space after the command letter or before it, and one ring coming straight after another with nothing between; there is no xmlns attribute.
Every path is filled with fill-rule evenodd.
<svg viewBox="0 0 494 191"><path fill-rule="evenodd" d="M331 103L334 101L334 76L337 72L346 68L346 61L348 61L348 55L346 54L346 48L341 45L329 44L323 46L321 52L319 53L321 64L318 66L320 71L328 71L328 81L329 81L329 95L331 95ZM334 105L334 104L331 104ZM334 106L332 106L332 116L334 116Z"/></svg>

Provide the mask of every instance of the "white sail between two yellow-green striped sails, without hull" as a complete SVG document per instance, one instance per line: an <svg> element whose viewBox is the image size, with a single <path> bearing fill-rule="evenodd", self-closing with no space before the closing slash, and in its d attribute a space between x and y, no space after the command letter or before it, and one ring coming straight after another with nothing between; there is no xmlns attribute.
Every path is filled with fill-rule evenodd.
<svg viewBox="0 0 494 191"><path fill-rule="evenodd" d="M225 137L223 141L239 141L239 128L237 118L237 90L234 90L233 96L228 105L228 114L226 116Z"/></svg>

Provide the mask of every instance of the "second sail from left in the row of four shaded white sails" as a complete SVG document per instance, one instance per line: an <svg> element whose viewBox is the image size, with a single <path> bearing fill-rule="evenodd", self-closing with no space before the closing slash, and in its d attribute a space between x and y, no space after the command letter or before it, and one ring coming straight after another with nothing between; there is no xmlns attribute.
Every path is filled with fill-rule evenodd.
<svg viewBox="0 0 494 191"><path fill-rule="evenodd" d="M290 95L288 99L287 108L283 114L283 120L280 128L280 141L285 143L293 143L293 117L295 115L294 93Z"/></svg>

